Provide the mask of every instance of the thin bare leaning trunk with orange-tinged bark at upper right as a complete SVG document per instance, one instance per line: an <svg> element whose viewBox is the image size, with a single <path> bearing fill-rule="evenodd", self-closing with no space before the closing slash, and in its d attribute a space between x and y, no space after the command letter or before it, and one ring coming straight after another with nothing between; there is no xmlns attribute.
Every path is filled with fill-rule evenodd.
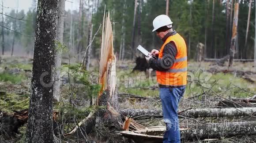
<svg viewBox="0 0 256 143"><path fill-rule="evenodd" d="M239 2L237 1L234 9L234 19L233 19L233 29L232 29L232 39L230 43L230 60L229 67L233 64L233 59L235 56L236 50L236 41L237 41L237 25L238 25L238 13L239 13Z"/></svg>

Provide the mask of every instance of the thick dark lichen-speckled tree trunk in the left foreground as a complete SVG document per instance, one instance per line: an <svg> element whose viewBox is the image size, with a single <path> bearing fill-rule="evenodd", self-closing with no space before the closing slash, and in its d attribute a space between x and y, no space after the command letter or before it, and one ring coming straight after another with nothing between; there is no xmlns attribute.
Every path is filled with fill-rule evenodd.
<svg viewBox="0 0 256 143"><path fill-rule="evenodd" d="M53 79L58 0L38 0L26 143L54 143Z"/></svg>

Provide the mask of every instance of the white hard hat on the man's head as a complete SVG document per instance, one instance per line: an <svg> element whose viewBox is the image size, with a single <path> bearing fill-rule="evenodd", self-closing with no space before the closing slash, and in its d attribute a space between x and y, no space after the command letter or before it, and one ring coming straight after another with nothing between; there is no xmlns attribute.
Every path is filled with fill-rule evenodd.
<svg viewBox="0 0 256 143"><path fill-rule="evenodd" d="M160 27L167 26L167 25L172 25L172 24L173 24L173 22L171 21L169 16L167 16L165 14L158 15L153 20L154 29L152 30L152 32L154 32L155 30L159 29Z"/></svg>

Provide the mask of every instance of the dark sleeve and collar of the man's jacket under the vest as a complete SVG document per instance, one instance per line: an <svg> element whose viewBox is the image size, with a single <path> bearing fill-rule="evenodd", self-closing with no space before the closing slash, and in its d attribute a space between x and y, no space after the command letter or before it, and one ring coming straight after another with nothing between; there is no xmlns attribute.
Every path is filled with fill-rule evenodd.
<svg viewBox="0 0 256 143"><path fill-rule="evenodd" d="M164 36L164 38L162 39L162 41L165 42L169 36L173 36L175 34L177 34L176 31L167 33L166 36ZM149 59L149 66L156 71L162 71L162 72L167 71L169 68L173 66L176 54L177 54L177 47L175 43L171 41L167 43L166 46L164 47L163 57L161 59L160 58Z"/></svg>

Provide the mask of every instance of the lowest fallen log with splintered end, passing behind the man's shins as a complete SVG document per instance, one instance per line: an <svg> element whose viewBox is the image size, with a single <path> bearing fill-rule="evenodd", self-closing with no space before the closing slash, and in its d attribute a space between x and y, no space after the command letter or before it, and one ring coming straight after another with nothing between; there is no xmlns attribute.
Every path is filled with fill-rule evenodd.
<svg viewBox="0 0 256 143"><path fill-rule="evenodd" d="M188 125L180 130L181 140L216 139L229 136L256 135L256 122L224 122ZM147 128L137 131L119 132L136 143L162 143L165 128Z"/></svg>

